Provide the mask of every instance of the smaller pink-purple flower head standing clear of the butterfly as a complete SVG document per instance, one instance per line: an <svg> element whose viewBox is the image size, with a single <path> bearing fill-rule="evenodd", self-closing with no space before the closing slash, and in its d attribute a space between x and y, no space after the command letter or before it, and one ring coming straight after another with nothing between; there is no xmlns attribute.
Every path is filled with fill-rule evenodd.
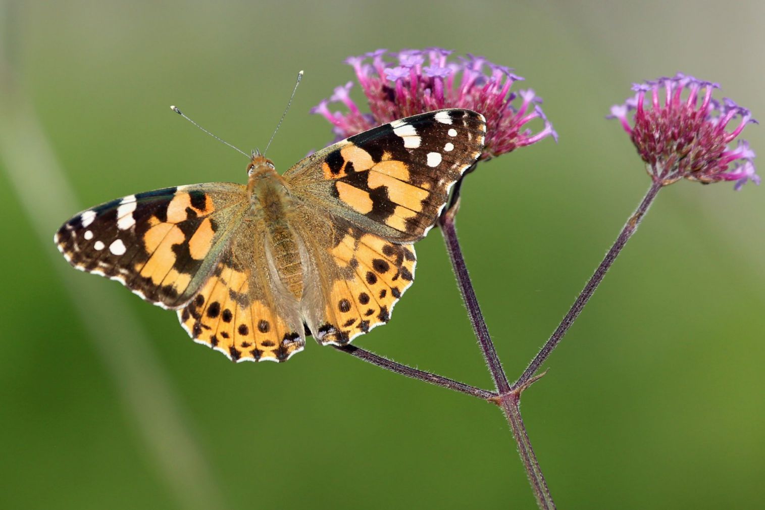
<svg viewBox="0 0 765 510"><path fill-rule="evenodd" d="M683 177L703 184L735 180L736 190L747 180L760 184L747 142L729 146L745 125L757 121L731 99L712 99L717 88L717 83L681 73L636 83L635 96L611 107L609 118L621 122L656 182L672 184Z"/></svg>

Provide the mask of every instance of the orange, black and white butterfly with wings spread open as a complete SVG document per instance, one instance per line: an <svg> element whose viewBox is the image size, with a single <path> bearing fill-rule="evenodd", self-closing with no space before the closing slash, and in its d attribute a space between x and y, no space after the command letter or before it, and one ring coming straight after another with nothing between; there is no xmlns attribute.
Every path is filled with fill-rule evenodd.
<svg viewBox="0 0 765 510"><path fill-rule="evenodd" d="M285 361L388 322L415 250L483 151L483 115L444 109L339 141L283 175L259 152L247 184L135 193L54 236L82 271L119 281L236 362Z"/></svg>

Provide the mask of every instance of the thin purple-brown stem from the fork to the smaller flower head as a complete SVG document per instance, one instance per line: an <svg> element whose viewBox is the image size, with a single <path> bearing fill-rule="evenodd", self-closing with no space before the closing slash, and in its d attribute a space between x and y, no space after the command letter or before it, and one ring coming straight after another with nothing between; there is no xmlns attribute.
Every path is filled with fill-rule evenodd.
<svg viewBox="0 0 765 510"><path fill-rule="evenodd" d="M518 378L515 384L513 384L513 388L523 386L526 384L526 382L529 382L536 371L539 370L539 367L542 366L542 363L544 363L548 356L550 356L553 349L558 346L558 343L560 343L561 339L568 331L568 328L571 327L571 324L574 323L579 313L581 313L581 310L584 309L584 305L587 304L597 286L601 284L601 281L603 281L604 276L606 275L611 265L614 263L617 255L619 255L621 250L624 248L624 245L627 244L627 241L630 240L630 237L632 237L632 235L637 230L637 226L640 225L640 220L643 219L643 216L648 211L651 203L653 203L653 200L656 198L656 193L659 193L661 188L661 182L655 182L651 184L651 187L649 187L648 191L646 192L646 196L643 197L643 200L640 202L640 206L637 207L637 210L633 213L632 216L630 216L630 219L627 220L627 224L624 225L623 229L619 233L619 236L617 237L616 242L614 242L614 245L611 246L610 250L608 250L608 253L601 262L601 265L597 266L597 269L595 269L595 272L590 280L586 285L584 285L584 289L581 291L581 294L579 294L579 297L576 298L574 304L571 305L571 309L568 310L568 313L566 313L565 317L563 317L563 320L555 329L555 332L552 333L552 336L550 336L545 345L542 346L542 349L539 349L539 352L529 363L529 366L526 367L526 370Z"/></svg>

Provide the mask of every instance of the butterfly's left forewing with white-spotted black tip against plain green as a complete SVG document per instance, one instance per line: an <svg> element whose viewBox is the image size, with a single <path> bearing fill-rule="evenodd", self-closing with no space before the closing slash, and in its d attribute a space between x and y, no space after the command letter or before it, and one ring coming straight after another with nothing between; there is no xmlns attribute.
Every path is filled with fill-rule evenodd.
<svg viewBox="0 0 765 510"><path fill-rule="evenodd" d="M136 193L73 216L54 241L75 268L174 308L194 296L246 203L233 183Z"/></svg>

